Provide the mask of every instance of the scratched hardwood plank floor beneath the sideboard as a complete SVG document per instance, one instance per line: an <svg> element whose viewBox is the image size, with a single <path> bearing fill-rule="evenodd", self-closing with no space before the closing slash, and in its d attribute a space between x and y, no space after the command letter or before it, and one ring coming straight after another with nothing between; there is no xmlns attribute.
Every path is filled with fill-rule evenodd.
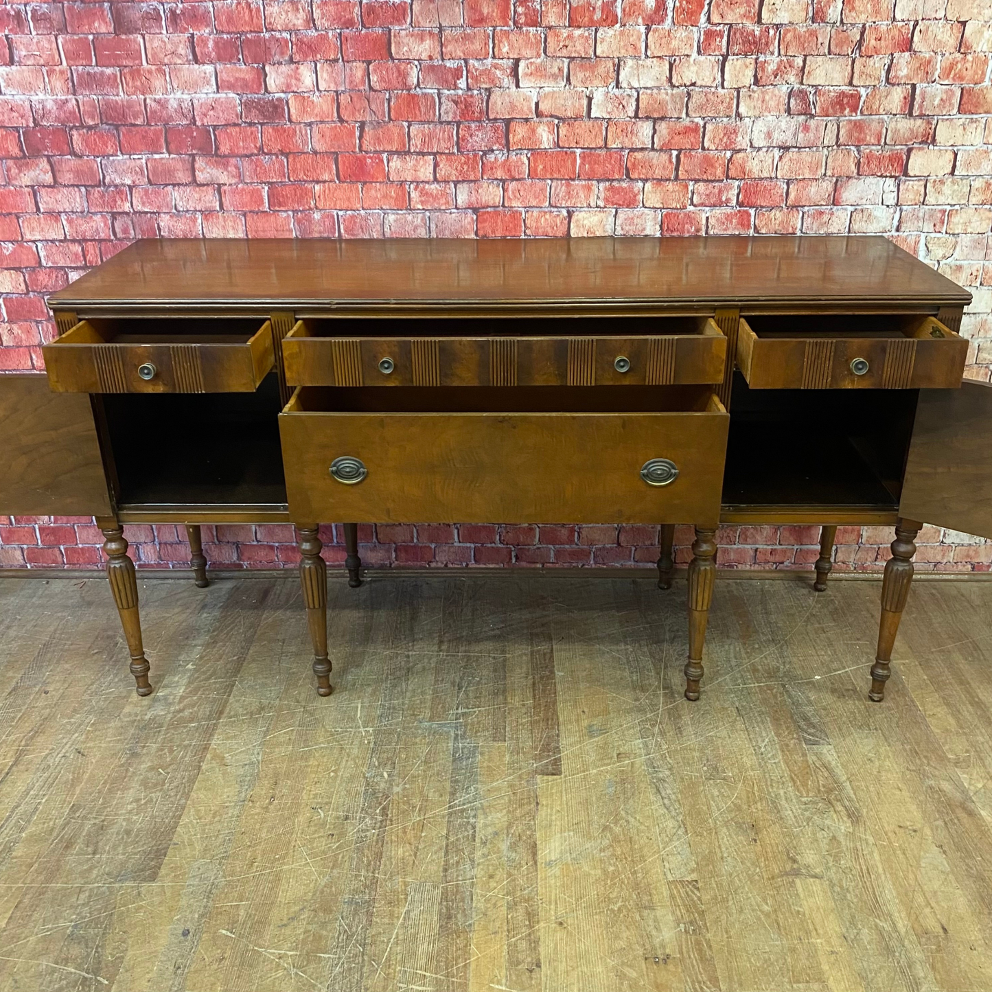
<svg viewBox="0 0 992 992"><path fill-rule="evenodd" d="M0 988L992 988L992 585L0 580Z"/></svg>

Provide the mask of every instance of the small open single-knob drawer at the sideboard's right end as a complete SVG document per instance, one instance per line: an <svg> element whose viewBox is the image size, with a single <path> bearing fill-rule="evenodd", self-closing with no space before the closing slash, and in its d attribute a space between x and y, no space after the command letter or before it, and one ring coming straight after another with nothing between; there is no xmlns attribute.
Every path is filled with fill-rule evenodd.
<svg viewBox="0 0 992 992"><path fill-rule="evenodd" d="M737 364L752 389L947 389L968 342L932 316L741 318Z"/></svg>

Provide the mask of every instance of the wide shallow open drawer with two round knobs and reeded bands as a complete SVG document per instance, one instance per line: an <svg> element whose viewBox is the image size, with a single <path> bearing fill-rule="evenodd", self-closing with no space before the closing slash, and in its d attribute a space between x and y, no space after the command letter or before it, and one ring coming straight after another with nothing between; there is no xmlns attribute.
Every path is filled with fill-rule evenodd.
<svg viewBox="0 0 992 992"><path fill-rule="evenodd" d="M667 386L721 382L726 347L706 316L329 318L283 361L291 386Z"/></svg>

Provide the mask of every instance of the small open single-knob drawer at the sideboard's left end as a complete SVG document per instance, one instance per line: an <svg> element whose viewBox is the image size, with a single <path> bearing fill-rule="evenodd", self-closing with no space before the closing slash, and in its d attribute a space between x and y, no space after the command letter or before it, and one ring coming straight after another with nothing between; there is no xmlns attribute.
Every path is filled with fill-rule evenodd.
<svg viewBox="0 0 992 992"><path fill-rule="evenodd" d="M274 364L254 318L80 320L43 351L64 393L250 393Z"/></svg>

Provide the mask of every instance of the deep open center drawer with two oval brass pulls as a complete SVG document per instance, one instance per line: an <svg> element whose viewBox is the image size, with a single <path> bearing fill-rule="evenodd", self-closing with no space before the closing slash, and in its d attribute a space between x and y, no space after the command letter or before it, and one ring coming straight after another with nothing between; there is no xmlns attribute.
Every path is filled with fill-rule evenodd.
<svg viewBox="0 0 992 992"><path fill-rule="evenodd" d="M709 388L304 387L279 420L297 523L719 519Z"/></svg>

